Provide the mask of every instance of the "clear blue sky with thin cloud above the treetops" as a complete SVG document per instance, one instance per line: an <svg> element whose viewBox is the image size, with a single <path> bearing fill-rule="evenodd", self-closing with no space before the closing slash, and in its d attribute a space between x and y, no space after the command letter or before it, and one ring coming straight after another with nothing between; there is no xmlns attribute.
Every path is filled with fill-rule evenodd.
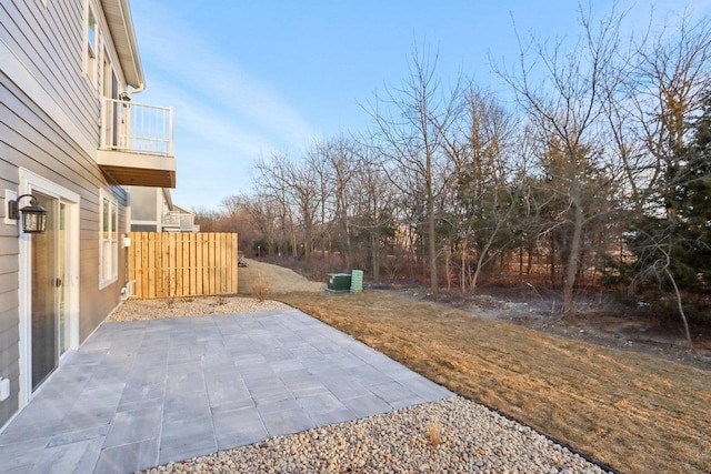
<svg viewBox="0 0 711 474"><path fill-rule="evenodd" d="M682 10L680 0L621 2L637 26L652 4L658 18ZM687 4L711 13L711 0ZM439 51L444 83L461 71L501 90L489 57L515 60L512 21L539 38L578 26L572 0L132 0L131 12L147 81L133 100L174 108L173 202L212 210L252 189L261 157L299 158L314 140L364 131L362 104L407 79L415 42Z"/></svg>

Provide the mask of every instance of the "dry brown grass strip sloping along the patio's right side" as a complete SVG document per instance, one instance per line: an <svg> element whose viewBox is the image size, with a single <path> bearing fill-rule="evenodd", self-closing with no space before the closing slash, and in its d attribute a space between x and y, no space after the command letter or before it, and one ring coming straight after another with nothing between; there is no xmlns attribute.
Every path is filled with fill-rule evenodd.
<svg viewBox="0 0 711 474"><path fill-rule="evenodd" d="M622 472L711 470L710 372L378 292L277 299Z"/></svg>

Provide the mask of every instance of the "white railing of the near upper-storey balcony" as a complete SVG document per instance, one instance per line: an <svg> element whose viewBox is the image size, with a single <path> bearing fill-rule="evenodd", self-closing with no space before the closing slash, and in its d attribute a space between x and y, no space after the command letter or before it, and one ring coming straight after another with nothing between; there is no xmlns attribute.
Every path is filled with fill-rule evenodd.
<svg viewBox="0 0 711 474"><path fill-rule="evenodd" d="M101 149L173 157L173 109L103 99Z"/></svg>

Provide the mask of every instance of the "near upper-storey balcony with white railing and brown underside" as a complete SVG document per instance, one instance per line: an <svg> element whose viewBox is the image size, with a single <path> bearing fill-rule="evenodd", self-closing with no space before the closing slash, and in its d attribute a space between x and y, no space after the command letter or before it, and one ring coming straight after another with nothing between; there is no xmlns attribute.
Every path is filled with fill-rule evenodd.
<svg viewBox="0 0 711 474"><path fill-rule="evenodd" d="M102 100L97 160L117 184L176 188L172 108Z"/></svg>

